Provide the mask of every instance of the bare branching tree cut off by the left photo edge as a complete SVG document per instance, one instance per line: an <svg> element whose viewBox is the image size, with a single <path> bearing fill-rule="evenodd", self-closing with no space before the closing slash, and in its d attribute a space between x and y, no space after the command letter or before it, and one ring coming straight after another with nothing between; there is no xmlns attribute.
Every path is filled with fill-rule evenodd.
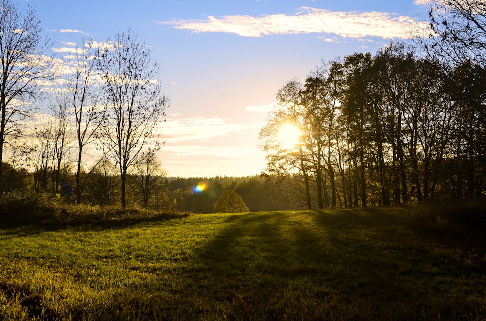
<svg viewBox="0 0 486 321"><path fill-rule="evenodd" d="M7 136L32 110L28 101L41 95L39 80L52 75L52 59L44 55L50 42L42 40L41 32L32 7L21 12L0 0L0 163Z"/></svg>

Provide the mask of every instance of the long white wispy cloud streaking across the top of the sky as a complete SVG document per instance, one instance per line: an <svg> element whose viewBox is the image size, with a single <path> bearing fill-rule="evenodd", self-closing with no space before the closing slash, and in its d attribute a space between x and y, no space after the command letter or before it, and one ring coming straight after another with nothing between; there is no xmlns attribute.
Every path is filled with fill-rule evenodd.
<svg viewBox="0 0 486 321"><path fill-rule="evenodd" d="M418 0L417 0L418 1ZM295 15L208 16L207 20L158 22L193 32L226 32L244 37L321 33L348 38L408 38L414 18L385 12L344 12L302 7Z"/></svg>

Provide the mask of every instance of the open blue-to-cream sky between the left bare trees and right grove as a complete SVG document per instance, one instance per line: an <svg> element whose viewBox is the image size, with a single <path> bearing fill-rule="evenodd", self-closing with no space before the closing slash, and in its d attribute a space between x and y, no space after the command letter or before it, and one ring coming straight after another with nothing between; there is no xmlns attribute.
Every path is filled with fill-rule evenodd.
<svg viewBox="0 0 486 321"><path fill-rule="evenodd" d="M13 0L15 2L15 0ZM63 48L130 27L153 48L171 107L159 153L168 176L260 174L258 132L278 89L321 60L406 39L424 0L17 0Z"/></svg>

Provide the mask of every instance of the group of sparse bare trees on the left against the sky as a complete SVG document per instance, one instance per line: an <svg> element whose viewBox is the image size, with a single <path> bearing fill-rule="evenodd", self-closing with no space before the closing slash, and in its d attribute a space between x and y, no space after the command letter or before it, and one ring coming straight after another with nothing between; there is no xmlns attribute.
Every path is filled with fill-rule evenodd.
<svg viewBox="0 0 486 321"><path fill-rule="evenodd" d="M79 204L92 174L84 173L88 156L95 165L115 164L124 208L130 171L153 161L169 107L149 44L127 29L56 58L47 54L53 43L42 38L34 8L24 12L9 0L0 8L0 191L28 168L36 192L58 193L74 172Z"/></svg>

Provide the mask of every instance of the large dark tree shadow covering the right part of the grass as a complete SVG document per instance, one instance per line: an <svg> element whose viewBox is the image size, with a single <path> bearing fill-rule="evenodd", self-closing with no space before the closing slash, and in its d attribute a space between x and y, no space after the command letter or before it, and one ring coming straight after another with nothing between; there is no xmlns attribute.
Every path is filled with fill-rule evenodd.
<svg viewBox="0 0 486 321"><path fill-rule="evenodd" d="M187 271L205 280L189 291L207 298L191 308L284 320L486 317L477 309L486 298L478 285L486 257L458 253L454 244L410 230L408 213L370 208L235 216Z"/></svg>

